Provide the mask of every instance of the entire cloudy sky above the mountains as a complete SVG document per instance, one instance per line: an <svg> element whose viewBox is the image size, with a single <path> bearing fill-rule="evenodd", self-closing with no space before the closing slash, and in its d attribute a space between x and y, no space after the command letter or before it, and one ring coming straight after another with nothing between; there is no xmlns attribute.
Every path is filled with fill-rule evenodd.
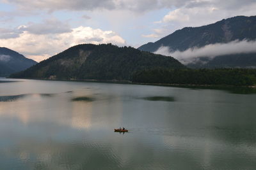
<svg viewBox="0 0 256 170"><path fill-rule="evenodd" d="M39 62L81 43L138 48L237 15L256 15L256 1L0 0L0 46Z"/></svg>

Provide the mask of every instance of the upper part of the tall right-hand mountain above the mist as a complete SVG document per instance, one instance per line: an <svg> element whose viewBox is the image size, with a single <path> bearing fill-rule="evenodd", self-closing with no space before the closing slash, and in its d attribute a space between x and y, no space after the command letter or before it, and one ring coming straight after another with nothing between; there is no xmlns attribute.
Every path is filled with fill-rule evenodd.
<svg viewBox="0 0 256 170"><path fill-rule="evenodd" d="M236 39L256 39L256 16L237 16L201 27L184 27L155 43L147 43L138 49L156 52L161 46L184 51L191 47L202 47L214 43L227 43Z"/></svg>

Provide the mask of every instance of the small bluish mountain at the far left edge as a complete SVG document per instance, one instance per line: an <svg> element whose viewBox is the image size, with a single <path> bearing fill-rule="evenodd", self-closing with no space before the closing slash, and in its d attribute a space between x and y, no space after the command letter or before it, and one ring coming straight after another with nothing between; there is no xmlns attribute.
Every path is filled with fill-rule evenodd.
<svg viewBox="0 0 256 170"><path fill-rule="evenodd" d="M8 76L34 64L36 64L34 60L27 59L24 55L9 48L0 47L0 76Z"/></svg>

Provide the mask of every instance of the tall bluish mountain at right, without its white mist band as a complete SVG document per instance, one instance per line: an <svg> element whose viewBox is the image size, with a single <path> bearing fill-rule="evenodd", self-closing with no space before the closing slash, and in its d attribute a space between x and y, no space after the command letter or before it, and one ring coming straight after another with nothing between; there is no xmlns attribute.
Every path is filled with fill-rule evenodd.
<svg viewBox="0 0 256 170"><path fill-rule="evenodd" d="M184 52L189 48L200 48L216 43L230 43L231 41L255 41L256 16L232 17L220 20L214 24L202 27L184 27L172 34L159 39L155 43L147 43L138 49L156 52L161 46L167 46L170 52L179 50ZM256 47L255 47L256 48ZM199 56L198 56L199 57ZM206 57L207 58L207 57ZM236 53L217 55L211 59L200 56L199 60L190 63L191 67L255 67L256 53ZM243 62L243 64L240 64Z"/></svg>

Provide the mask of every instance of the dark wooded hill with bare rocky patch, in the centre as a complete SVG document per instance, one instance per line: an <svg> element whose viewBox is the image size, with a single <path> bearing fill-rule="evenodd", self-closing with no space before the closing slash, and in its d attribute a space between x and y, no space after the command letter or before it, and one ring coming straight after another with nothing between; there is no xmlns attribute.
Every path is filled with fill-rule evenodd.
<svg viewBox="0 0 256 170"><path fill-rule="evenodd" d="M132 73L154 67L184 68L172 57L141 52L132 47L84 44L68 48L13 78L130 80Z"/></svg>

